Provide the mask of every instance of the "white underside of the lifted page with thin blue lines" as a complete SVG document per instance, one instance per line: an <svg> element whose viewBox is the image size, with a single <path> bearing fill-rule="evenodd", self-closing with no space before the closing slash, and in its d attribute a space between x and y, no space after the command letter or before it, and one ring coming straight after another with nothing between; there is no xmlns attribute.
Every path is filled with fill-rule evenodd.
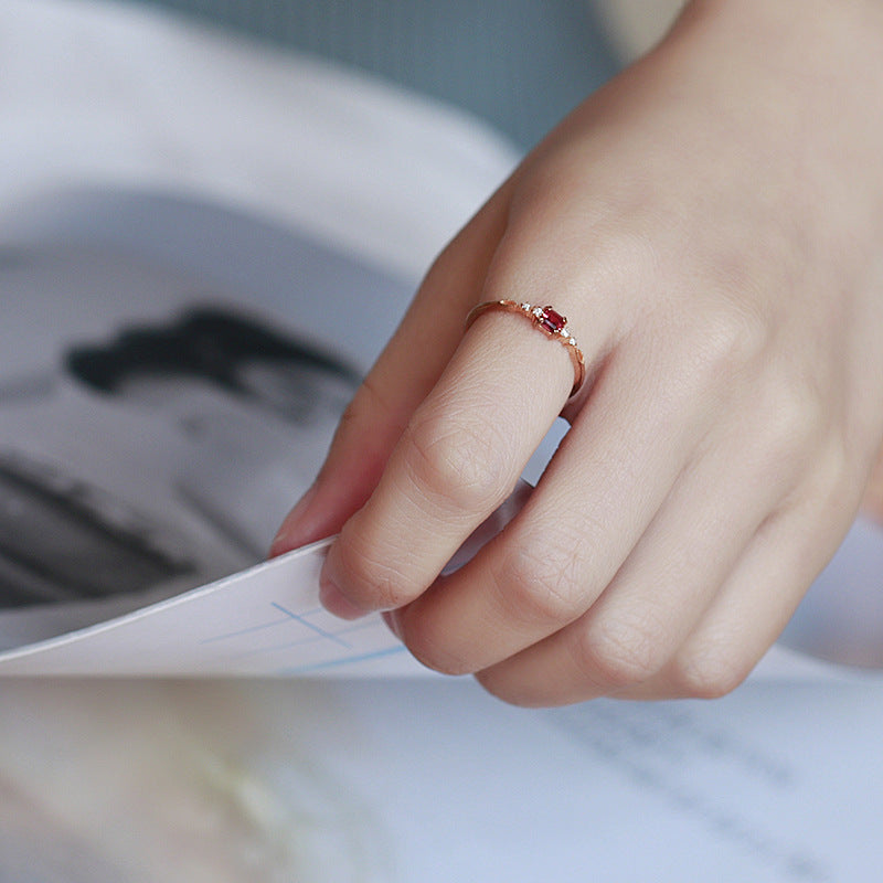
<svg viewBox="0 0 883 883"><path fill-rule="evenodd" d="M0 674L405 674L419 666L380 616L318 604L328 541L106 624L0 656Z"/></svg>

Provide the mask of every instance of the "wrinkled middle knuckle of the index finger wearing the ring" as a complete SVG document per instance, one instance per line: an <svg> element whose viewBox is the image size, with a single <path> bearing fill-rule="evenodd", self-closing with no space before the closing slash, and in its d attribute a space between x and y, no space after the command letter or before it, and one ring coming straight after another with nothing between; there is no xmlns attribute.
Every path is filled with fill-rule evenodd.
<svg viewBox="0 0 883 883"><path fill-rule="evenodd" d="M432 499L460 511L490 512L513 480L513 457L490 425L423 418L408 430L406 468Z"/></svg>

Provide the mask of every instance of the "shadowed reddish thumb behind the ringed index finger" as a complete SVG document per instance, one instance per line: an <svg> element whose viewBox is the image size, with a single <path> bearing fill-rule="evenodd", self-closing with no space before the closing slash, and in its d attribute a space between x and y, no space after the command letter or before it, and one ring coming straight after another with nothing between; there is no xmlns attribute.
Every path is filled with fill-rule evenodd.
<svg viewBox="0 0 883 883"><path fill-rule="evenodd" d="M400 328L357 391L319 476L283 522L270 554L337 533L369 498L414 408L437 382L478 300L506 227L504 184L438 256Z"/></svg>

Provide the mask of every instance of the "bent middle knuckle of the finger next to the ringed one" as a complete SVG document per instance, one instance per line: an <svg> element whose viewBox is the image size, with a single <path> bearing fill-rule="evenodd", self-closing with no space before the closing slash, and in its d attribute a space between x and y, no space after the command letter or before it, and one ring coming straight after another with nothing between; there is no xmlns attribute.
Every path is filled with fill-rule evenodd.
<svg viewBox="0 0 883 883"><path fill-rule="evenodd" d="M494 574L494 586L514 621L557 626L583 613L586 595L572 549L556 550L551 541L513 545Z"/></svg>

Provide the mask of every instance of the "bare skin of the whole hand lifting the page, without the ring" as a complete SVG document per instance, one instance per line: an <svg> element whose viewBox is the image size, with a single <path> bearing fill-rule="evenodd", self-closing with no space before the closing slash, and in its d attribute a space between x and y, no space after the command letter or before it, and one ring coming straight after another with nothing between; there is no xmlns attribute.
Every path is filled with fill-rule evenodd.
<svg viewBox="0 0 883 883"><path fill-rule="evenodd" d="M716 696L784 628L883 439L883 6L708 0L447 246L280 553L523 705ZM586 357L483 300L552 304ZM562 411L563 408L563 411ZM439 573L562 413L476 558Z"/></svg>

